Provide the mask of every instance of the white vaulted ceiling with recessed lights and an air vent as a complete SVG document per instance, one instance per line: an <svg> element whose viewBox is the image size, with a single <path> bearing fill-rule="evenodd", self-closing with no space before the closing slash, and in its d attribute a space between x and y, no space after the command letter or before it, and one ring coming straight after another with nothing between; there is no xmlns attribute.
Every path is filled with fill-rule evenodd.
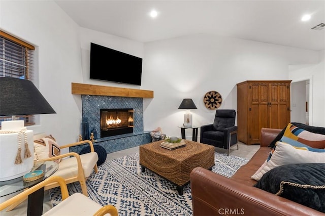
<svg viewBox="0 0 325 216"><path fill-rule="evenodd" d="M191 34L325 49L325 1L57 0L79 26L141 42ZM149 16L151 10L157 17ZM310 20L302 21L309 14ZM323 27L314 26L323 23Z"/></svg>

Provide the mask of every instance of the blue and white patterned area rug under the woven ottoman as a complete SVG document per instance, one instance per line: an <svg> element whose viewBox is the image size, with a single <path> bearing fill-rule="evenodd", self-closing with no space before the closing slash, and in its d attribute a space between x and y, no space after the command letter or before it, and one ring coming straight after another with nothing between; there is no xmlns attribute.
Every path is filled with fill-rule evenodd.
<svg viewBox="0 0 325 216"><path fill-rule="evenodd" d="M231 177L248 159L215 153L212 171ZM146 169L141 172L139 153L106 161L87 182L89 197L101 205L114 205L119 215L192 215L190 185L179 195L176 186ZM69 193L81 193L79 183L68 185ZM50 190L53 206L60 200L59 188Z"/></svg>

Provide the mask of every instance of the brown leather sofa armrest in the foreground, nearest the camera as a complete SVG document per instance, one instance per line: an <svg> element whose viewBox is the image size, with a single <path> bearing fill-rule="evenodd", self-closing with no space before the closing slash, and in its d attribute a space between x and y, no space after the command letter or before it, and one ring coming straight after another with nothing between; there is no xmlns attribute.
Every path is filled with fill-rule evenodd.
<svg viewBox="0 0 325 216"><path fill-rule="evenodd" d="M193 216L196 215L324 215L307 206L238 183L202 167L190 174Z"/></svg>

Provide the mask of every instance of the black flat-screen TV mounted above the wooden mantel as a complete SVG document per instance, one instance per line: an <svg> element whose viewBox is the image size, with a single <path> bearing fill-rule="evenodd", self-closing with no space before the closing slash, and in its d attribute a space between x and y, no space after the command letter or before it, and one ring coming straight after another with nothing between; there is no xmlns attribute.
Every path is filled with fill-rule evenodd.
<svg viewBox="0 0 325 216"><path fill-rule="evenodd" d="M90 43L90 79L141 85L142 58Z"/></svg>

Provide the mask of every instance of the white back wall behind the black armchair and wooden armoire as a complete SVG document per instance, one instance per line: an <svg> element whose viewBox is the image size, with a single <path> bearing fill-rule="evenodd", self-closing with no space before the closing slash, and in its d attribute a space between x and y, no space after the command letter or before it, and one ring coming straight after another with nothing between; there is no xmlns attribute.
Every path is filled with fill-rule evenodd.
<svg viewBox="0 0 325 216"><path fill-rule="evenodd" d="M318 52L215 35L191 35L145 44L142 88L154 91L144 101L144 129L157 126L168 136L180 137L183 98L192 98L197 110L193 124L213 122L215 110L203 103L217 91L219 109L237 110L237 85L245 80L288 79L289 64L315 64ZM188 129L186 137L191 137Z"/></svg>

